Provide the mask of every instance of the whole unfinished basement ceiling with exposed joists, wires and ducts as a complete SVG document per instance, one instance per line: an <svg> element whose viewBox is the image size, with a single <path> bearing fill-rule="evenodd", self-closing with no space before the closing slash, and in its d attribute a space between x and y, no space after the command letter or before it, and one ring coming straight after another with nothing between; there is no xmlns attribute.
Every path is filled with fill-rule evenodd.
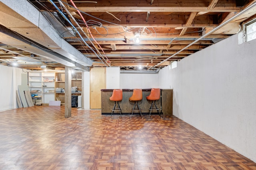
<svg viewBox="0 0 256 170"><path fill-rule="evenodd" d="M17 61L18 67L32 70L41 65L161 69L238 33L241 24L256 14L251 8L228 21L255 5L255 0L15 3L0 0L0 63Z"/></svg>

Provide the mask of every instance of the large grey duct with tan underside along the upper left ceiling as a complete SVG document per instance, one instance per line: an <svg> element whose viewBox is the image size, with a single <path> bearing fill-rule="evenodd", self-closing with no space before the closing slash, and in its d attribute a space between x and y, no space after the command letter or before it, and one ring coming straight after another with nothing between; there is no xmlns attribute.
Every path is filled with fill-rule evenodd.
<svg viewBox="0 0 256 170"><path fill-rule="evenodd" d="M50 51L56 54L58 53L59 56L54 57L54 61L63 63L63 60L67 60L68 63L70 63L71 60L74 61L74 64L77 66L79 64L82 66L92 66L93 61L85 57L80 51L60 37L59 33L45 16L27 0L19 0L19 3L12 0L1 0L0 14L3 18L0 21L1 25L47 47L47 49L50 49ZM19 47L19 49L27 51L27 49L22 47ZM31 50L34 50L34 48ZM36 53L34 51L30 52L34 54L37 53L39 56L46 56L44 52L41 53L42 51L38 51L38 49ZM52 56L50 58L52 58Z"/></svg>

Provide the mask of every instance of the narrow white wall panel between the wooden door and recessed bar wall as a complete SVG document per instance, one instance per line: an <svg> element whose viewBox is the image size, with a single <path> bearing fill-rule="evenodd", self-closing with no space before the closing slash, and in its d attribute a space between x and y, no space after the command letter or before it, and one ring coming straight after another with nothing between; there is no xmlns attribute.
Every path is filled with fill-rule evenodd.
<svg viewBox="0 0 256 170"><path fill-rule="evenodd" d="M120 68L106 67L106 89L120 88Z"/></svg>

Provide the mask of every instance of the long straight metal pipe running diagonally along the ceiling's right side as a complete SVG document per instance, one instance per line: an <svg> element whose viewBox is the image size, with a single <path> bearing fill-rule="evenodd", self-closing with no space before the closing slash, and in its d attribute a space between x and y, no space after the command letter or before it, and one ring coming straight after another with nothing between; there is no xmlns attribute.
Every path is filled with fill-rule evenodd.
<svg viewBox="0 0 256 170"><path fill-rule="evenodd" d="M229 23L230 21L236 19L237 17L239 17L240 15L244 14L245 12L247 12L248 10L252 9L253 7L256 6L256 2L254 2L252 5L244 8L244 10L240 11L238 14L236 14L235 16L231 17L230 19L226 20L225 22L221 23L220 25L218 25L217 27L215 27L214 29L212 29L212 31L209 31L208 33L206 33L205 35L203 35L202 37L198 38L197 40L195 40L194 42L190 43L189 45L187 45L186 47L184 47L183 49L181 49L180 51L178 51L177 53L174 53L173 55L171 55L170 57L168 57L167 59L165 59L164 61L161 61L160 63L156 64L155 66L151 67L154 68L162 63L164 63L165 61L167 61L168 59L174 57L175 55L177 55L178 53L182 52L183 50L185 50L186 48L190 47L191 45L193 45L194 43L200 41L201 39L203 39L204 37L210 35L211 33L213 33L214 31L217 31L218 29L220 29L221 27L223 27L224 25L226 25L227 23ZM150 69L151 69L150 68Z"/></svg>

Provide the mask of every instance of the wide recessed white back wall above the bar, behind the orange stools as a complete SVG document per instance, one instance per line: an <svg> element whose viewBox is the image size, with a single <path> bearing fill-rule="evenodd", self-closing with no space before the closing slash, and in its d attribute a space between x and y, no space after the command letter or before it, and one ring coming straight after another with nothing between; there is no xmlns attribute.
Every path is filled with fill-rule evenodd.
<svg viewBox="0 0 256 170"><path fill-rule="evenodd" d="M120 88L159 88L158 74L120 74Z"/></svg>

